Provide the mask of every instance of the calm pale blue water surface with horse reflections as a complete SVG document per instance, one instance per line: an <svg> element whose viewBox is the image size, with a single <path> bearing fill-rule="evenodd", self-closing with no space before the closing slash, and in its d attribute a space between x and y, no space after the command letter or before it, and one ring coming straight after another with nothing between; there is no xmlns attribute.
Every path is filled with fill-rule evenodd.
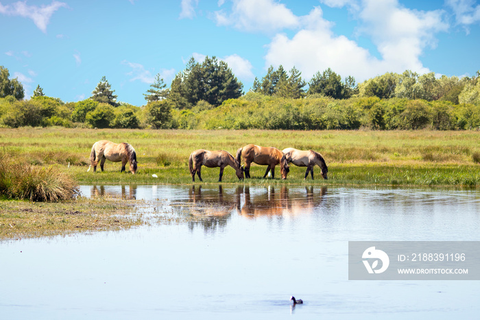
<svg viewBox="0 0 480 320"><path fill-rule="evenodd" d="M1 319L478 319L475 281L349 281L348 240L480 240L480 193L105 186L200 220L0 242ZM305 301L292 308L290 295Z"/></svg>

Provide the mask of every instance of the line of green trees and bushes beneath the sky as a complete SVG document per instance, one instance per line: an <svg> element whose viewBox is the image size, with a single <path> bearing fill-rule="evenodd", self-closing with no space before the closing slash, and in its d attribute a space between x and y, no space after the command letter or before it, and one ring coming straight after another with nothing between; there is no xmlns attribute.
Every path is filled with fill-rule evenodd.
<svg viewBox="0 0 480 320"><path fill-rule="evenodd" d="M356 84L328 68L309 82L293 67L270 66L243 94L227 63L215 57L191 58L170 87L160 74L145 106L117 102L101 78L90 98L64 103L45 96L38 85L32 98L18 79L0 67L0 126L91 128L279 128L378 130L479 128L480 73L471 78L385 73ZM415 110L415 112L413 112ZM468 114L472 119L468 120ZM263 115L263 116L259 116ZM259 119L261 118L261 120ZM253 120L256 119L256 120ZM442 119L442 121L440 121ZM441 124L440 124L441 122Z"/></svg>

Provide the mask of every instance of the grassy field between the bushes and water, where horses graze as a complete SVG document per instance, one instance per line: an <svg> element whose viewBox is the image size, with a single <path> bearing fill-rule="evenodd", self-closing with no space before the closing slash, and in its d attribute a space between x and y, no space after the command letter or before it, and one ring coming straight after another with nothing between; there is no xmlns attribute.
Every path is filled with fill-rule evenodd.
<svg viewBox="0 0 480 320"><path fill-rule="evenodd" d="M139 161L137 174L120 173L120 163L109 161L105 172L87 172L91 147L100 139L132 144ZM187 160L193 150L222 149L235 155L241 146L258 144L280 150L316 150L326 160L329 179L321 179L317 167L315 180L304 181L305 168L294 165L286 181L280 179L279 168L274 181L260 179L265 167L255 165L253 179L245 182L237 179L232 168L226 168L224 183L479 187L479 141L477 131L1 128L0 155L7 154L19 163L53 166L79 184L184 184L191 183ZM203 168L204 183L217 183L218 174L218 168Z"/></svg>

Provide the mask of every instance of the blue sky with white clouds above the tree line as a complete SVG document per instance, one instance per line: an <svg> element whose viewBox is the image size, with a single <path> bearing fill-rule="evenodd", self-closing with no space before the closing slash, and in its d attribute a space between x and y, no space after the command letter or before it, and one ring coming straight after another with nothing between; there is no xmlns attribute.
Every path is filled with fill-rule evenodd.
<svg viewBox="0 0 480 320"><path fill-rule="evenodd" d="M331 68L357 83L405 70L474 76L474 0L0 1L0 65L25 99L40 85L64 102L91 97L106 76L117 102L146 103L193 57L224 60L246 93L270 65L307 82Z"/></svg>

